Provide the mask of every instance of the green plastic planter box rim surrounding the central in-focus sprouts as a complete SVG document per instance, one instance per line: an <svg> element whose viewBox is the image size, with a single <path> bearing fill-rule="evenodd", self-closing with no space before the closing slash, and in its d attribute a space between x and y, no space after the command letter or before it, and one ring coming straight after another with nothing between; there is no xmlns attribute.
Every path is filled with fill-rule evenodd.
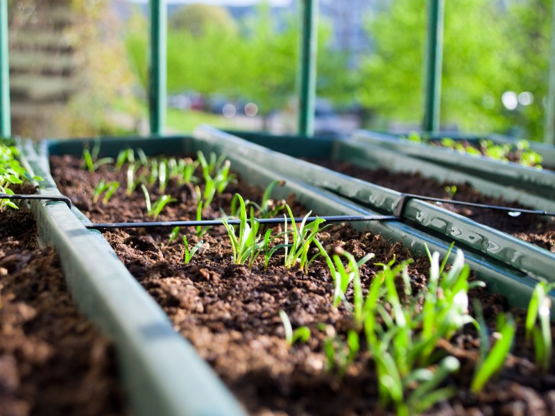
<svg viewBox="0 0 555 416"><path fill-rule="evenodd" d="M211 130L212 131L212 130ZM275 188L276 198L296 194L299 202L320 215L375 214L328 189L310 184L309 178L294 177L305 163L248 141L225 135L200 132L196 137L103 138L101 153L115 156L119 150L142 148L147 155L180 155L214 151L225 153L232 169L250 184L266 187L283 179L284 187ZM39 148L26 143L23 148L33 171L46 177L40 193L59 194L49 175L48 154L81 155L83 144L93 139L44 141ZM291 163L284 164L284 158ZM294 174L294 175L293 175ZM349 178L348 178L349 179ZM349 179L352 181L352 179ZM407 205L407 211L417 201ZM63 202L36 202L33 209L40 224L41 239L53 243L60 252L62 268L76 302L99 322L117 345L123 381L128 389L133 412L140 415L242 415L244 410L200 360L191 345L173 331L171 323L157 304L96 231L85 229L89 220ZM425 244L432 251L447 252L451 239L403 222L354 223L392 241L400 241L414 254L424 254ZM463 248L468 265L488 282L490 291L502 293L509 302L526 306L536 279L486 253Z"/></svg>

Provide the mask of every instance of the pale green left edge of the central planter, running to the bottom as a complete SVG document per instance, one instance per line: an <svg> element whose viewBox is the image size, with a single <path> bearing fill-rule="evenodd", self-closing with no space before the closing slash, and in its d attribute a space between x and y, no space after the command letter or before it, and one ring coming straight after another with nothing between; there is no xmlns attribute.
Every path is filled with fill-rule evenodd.
<svg viewBox="0 0 555 416"><path fill-rule="evenodd" d="M60 194L44 159L28 144L23 154L34 173L46 179L40 193ZM173 331L167 315L101 234L83 227L82 214L79 219L80 213L63 202L34 202L32 209L40 241L58 250L78 307L114 340L133 414L246 414L210 366Z"/></svg>

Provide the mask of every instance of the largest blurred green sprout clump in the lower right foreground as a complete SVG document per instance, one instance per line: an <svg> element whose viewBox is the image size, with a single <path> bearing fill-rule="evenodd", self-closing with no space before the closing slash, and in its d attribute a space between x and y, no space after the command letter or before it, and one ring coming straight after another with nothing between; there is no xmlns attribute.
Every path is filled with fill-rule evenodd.
<svg viewBox="0 0 555 416"><path fill-rule="evenodd" d="M379 401L393 404L398 415L425 411L436 402L448 399L454 388L438 387L459 368L459 361L447 356L438 361L438 340L449 340L454 331L475 320L468 315L468 267L461 251L457 252L449 272L444 272L439 254L429 254L431 267L427 291L413 295L404 288L404 299L395 282L399 273L405 286L409 283L406 263L383 270L373 279L364 311L364 333L373 354L379 379ZM366 308L366 309L365 309Z"/></svg>

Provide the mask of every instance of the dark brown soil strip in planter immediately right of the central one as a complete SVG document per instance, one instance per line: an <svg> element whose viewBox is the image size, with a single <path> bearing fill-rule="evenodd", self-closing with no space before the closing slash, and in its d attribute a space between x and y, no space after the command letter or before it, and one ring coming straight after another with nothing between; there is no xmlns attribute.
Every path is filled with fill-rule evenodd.
<svg viewBox="0 0 555 416"><path fill-rule="evenodd" d="M361 168L354 164L334 162L330 160L311 161L334 171L344 173L358 179L380 185L382 187L395 189L402 193L416 193L433 198L449 199L445 187L456 186L453 200L473 202L484 205L499 205L504 207L526 208L515 202L507 202L502 198L492 198L481 194L470 184L454 184L453 182L439 182L429 177L423 177L420 173L399 173L386 171L383 168L371 170ZM555 222L549 218L540 218L536 215L521 214L512 217L503 211L483 209L475 207L463 207L461 205L443 204L442 208L461 214L484 225L497 228L502 232L511 234L519 239L528 241L535 245L555 252Z"/></svg>

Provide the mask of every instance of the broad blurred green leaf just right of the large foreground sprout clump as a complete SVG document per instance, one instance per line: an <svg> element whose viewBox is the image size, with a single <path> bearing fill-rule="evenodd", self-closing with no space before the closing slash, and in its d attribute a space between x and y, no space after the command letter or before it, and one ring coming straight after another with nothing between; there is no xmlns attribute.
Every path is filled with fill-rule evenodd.
<svg viewBox="0 0 555 416"><path fill-rule="evenodd" d="M485 324L480 326L481 331L486 331L486 328ZM477 365L477 370L472 378L470 391L474 393L480 392L488 380L503 366L513 345L515 332L516 325L511 315L499 314L497 316L497 340L488 354L483 354L484 351L487 352L487 348L481 348L480 363ZM481 336L481 338L482 343L484 343L484 338L486 343L488 343L487 336Z"/></svg>

